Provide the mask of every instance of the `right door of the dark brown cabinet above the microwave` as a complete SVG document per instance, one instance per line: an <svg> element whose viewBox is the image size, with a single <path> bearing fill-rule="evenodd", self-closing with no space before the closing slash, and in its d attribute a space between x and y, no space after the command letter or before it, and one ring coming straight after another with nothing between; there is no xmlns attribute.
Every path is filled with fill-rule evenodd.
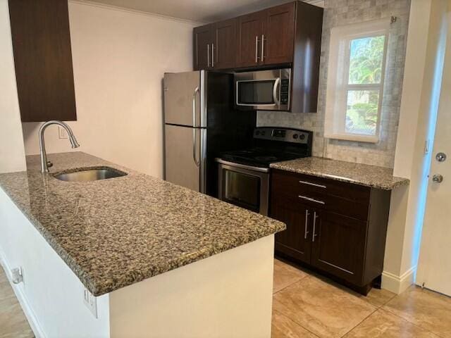
<svg viewBox="0 0 451 338"><path fill-rule="evenodd" d="M295 39L295 2L266 10L263 63L291 63Z"/></svg>

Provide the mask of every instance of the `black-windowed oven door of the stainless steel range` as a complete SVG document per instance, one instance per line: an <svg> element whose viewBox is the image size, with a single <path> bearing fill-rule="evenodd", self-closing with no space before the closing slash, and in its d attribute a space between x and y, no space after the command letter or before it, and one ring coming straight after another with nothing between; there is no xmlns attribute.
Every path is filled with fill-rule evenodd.
<svg viewBox="0 0 451 338"><path fill-rule="evenodd" d="M218 197L262 215L268 215L269 169L218 162Z"/></svg>

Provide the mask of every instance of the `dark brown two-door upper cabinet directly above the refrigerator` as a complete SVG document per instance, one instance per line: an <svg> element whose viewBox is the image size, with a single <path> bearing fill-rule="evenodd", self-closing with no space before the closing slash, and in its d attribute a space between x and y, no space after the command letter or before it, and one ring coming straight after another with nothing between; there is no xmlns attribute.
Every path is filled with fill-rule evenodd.
<svg viewBox="0 0 451 338"><path fill-rule="evenodd" d="M236 19L194 28L194 70L235 67Z"/></svg>

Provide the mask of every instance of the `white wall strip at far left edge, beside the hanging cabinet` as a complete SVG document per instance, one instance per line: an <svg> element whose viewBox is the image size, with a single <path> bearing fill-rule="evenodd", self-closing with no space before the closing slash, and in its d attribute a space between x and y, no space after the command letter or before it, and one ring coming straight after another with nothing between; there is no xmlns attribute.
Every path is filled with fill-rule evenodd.
<svg viewBox="0 0 451 338"><path fill-rule="evenodd" d="M0 173L25 170L8 0L0 0Z"/></svg>

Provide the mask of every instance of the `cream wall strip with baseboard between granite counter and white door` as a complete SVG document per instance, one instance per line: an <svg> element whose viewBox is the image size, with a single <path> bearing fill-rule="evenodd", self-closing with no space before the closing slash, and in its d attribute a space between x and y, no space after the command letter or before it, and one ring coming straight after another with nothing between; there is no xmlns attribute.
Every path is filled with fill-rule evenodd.
<svg viewBox="0 0 451 338"><path fill-rule="evenodd" d="M404 88L395 154L394 175L411 180L409 188L392 194L383 287L402 292L414 281L431 154L424 154L426 140L432 145L433 102L440 89L440 42L443 1L412 1L407 39Z"/></svg>

